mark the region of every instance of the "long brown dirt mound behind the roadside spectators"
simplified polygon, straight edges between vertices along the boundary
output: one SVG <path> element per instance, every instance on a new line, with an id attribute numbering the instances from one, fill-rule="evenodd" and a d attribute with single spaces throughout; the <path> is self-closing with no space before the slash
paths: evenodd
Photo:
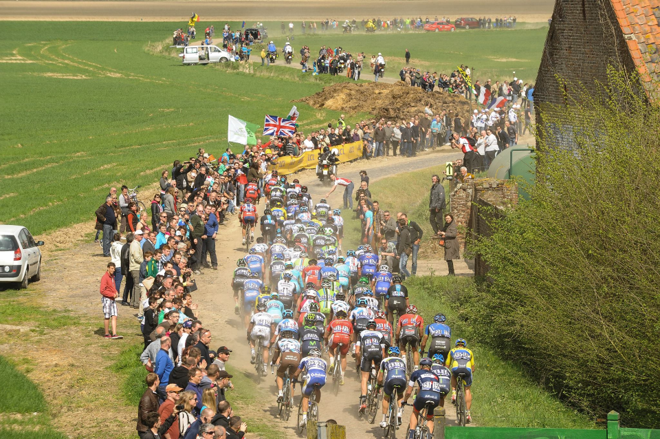
<path id="1" fill-rule="evenodd" d="M 325 87 L 321 92 L 300 99 L 314 108 L 326 108 L 347 113 L 366 112 L 386 120 L 410 119 L 423 114 L 429 105 L 434 114 L 440 111 L 458 112 L 465 122 L 470 118 L 470 103 L 456 94 L 423 92 L 405 83 L 340 83 Z"/>

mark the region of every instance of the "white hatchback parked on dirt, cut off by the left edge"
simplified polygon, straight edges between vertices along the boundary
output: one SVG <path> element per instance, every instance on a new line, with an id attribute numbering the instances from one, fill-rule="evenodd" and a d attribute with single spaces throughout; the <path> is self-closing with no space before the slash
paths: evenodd
<path id="1" fill-rule="evenodd" d="M 0 225 L 0 283 L 17 283 L 28 288 L 30 281 L 41 279 L 43 241 L 34 241 L 23 226 Z"/>

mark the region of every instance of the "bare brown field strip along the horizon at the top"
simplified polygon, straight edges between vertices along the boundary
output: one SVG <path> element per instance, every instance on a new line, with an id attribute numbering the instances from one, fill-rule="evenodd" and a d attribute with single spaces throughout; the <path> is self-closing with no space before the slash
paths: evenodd
<path id="1" fill-rule="evenodd" d="M 366 17 L 448 15 L 500 17 L 542 22 L 552 15 L 553 0 L 411 0 L 399 1 L 0 1 L 4 21 L 182 21 L 197 12 L 209 20 L 320 20 Z"/>

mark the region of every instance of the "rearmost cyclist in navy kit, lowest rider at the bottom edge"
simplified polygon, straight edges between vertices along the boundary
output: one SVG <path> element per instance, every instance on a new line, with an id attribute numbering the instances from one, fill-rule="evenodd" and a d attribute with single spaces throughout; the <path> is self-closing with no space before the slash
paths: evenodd
<path id="1" fill-rule="evenodd" d="M 410 430 L 408 430 L 408 439 L 415 437 L 415 428 L 419 420 L 419 411 L 425 406 L 428 407 L 426 411 L 426 425 L 430 437 L 433 437 L 433 411 L 435 407 L 440 405 L 440 401 L 444 398 L 442 394 L 442 387 L 440 378 L 431 371 L 432 362 L 430 358 L 422 358 L 419 362 L 420 370 L 412 372 L 410 381 L 408 382 L 408 389 L 404 396 L 404 403 L 408 403 L 408 398 L 412 394 L 412 387 L 417 384 L 417 396 L 415 402 L 412 404 L 412 414 L 410 414 Z M 446 393 L 445 393 L 446 395 Z"/>

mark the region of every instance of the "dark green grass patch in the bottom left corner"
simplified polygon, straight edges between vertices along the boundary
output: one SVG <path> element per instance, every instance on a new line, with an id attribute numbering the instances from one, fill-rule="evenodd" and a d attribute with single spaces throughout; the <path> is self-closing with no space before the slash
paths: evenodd
<path id="1" fill-rule="evenodd" d="M 3 439 L 65 439 L 50 425 L 43 394 L 10 361 L 0 356 L 3 378 L 0 398 L 0 437 Z"/>

